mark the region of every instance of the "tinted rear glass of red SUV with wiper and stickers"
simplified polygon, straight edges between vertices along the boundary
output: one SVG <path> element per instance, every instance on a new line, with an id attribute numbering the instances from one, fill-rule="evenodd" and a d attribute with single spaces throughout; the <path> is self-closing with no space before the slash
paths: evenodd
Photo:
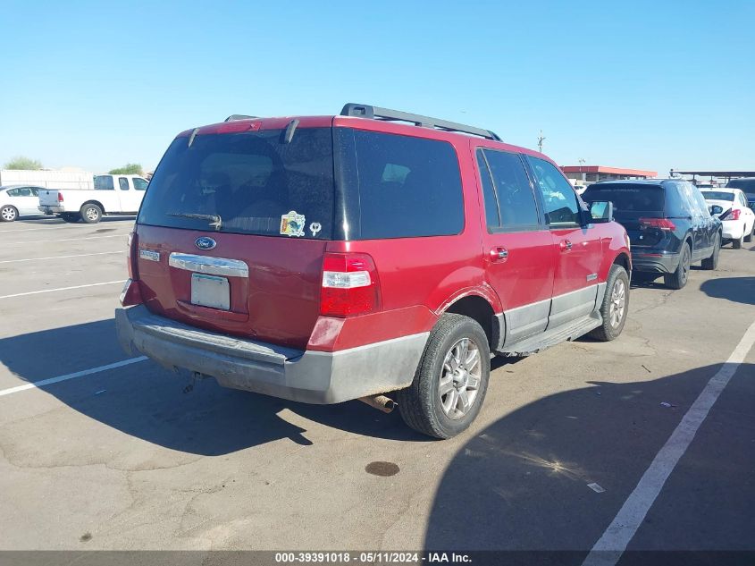
<path id="1" fill-rule="evenodd" d="M 197 135 L 173 140 L 149 182 L 139 224 L 329 240 L 330 128 Z"/>

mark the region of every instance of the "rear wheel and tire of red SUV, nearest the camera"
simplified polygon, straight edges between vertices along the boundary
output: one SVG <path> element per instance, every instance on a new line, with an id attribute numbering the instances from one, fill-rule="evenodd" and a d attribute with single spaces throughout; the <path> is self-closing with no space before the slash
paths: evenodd
<path id="1" fill-rule="evenodd" d="M 404 422 L 435 438 L 451 438 L 466 430 L 485 399 L 490 352 L 488 337 L 474 319 L 456 314 L 440 317 L 414 381 L 397 393 Z"/>

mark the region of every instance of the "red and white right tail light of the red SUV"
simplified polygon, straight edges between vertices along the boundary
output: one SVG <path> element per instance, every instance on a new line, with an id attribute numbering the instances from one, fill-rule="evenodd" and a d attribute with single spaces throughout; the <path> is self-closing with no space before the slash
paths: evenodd
<path id="1" fill-rule="evenodd" d="M 380 310 L 380 281 L 373 258 L 359 253 L 326 253 L 323 258 L 323 317 L 354 317 Z"/>

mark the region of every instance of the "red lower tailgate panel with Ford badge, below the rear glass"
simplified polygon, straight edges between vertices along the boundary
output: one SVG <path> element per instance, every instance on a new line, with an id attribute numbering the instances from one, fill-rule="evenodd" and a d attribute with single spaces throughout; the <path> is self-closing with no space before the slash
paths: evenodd
<path id="1" fill-rule="evenodd" d="M 216 241 L 214 249 L 197 249 L 197 239 L 206 237 Z M 320 311 L 325 241 L 141 225 L 137 242 L 140 289 L 152 312 L 215 332 L 306 348 Z M 206 306 L 206 282 L 197 283 L 202 277 L 217 284 L 218 291 L 208 292 L 227 296 L 227 305 Z"/>

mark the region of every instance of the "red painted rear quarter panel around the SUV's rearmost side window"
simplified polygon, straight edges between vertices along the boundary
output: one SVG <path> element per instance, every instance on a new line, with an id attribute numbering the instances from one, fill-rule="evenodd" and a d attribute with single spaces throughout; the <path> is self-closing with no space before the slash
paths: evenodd
<path id="1" fill-rule="evenodd" d="M 377 130 L 371 127 L 373 121 L 364 122 L 365 129 Z M 354 127 L 353 122 L 348 125 Z M 395 129 L 403 134 L 407 129 L 393 124 L 379 125 L 380 131 Z M 417 130 L 408 128 L 409 131 Z M 468 294 L 482 296 L 491 302 L 496 312 L 500 312 L 495 293 L 485 283 L 480 202 L 476 173 L 468 157 L 469 140 L 437 131 L 423 130 L 422 134 L 424 138 L 449 141 L 456 150 L 464 188 L 463 231 L 449 236 L 331 241 L 329 251 L 361 252 L 373 258 L 380 277 L 382 311 L 343 320 L 321 317 L 308 348 L 342 350 L 427 332 L 449 303 Z M 422 211 L 416 213 L 419 215 Z"/>

